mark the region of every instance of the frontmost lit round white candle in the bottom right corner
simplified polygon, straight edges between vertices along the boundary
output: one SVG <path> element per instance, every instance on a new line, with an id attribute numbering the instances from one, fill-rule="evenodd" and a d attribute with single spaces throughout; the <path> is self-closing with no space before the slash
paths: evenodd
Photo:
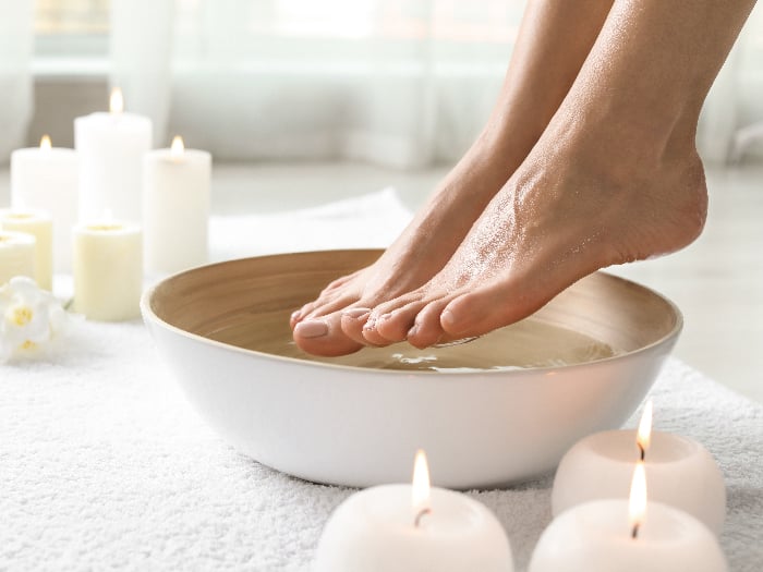
<path id="1" fill-rule="evenodd" d="M 594 500 L 562 512 L 541 535 L 528 568 L 528 572 L 580 570 L 724 572 L 727 565 L 704 524 L 674 507 L 647 502 L 645 472 L 639 462 L 630 500 Z"/>

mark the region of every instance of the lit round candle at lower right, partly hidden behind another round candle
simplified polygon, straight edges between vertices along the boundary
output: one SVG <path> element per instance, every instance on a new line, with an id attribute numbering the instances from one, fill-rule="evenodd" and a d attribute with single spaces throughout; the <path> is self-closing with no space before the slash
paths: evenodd
<path id="1" fill-rule="evenodd" d="M 638 430 L 597 433 L 576 443 L 561 459 L 554 479 L 553 513 L 590 500 L 627 498 L 633 465 L 643 459 L 652 500 L 681 509 L 719 534 L 726 488 L 715 460 L 697 441 L 653 433 L 651 424 L 649 402 Z"/>

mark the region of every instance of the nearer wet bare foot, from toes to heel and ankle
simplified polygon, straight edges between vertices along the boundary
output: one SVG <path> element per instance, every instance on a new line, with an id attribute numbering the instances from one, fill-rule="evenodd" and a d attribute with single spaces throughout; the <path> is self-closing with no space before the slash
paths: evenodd
<path id="1" fill-rule="evenodd" d="M 424 348 L 481 336 L 598 268 L 674 252 L 699 235 L 706 188 L 687 137 L 640 154 L 618 129 L 606 129 L 610 139 L 590 126 L 549 131 L 443 270 L 373 309 L 368 343 Z M 628 160 L 610 160 L 611 151 Z"/>

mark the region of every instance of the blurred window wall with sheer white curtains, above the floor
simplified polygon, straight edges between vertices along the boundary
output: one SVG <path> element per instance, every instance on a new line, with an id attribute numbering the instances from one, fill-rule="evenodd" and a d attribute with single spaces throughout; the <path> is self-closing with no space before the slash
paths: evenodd
<path id="1" fill-rule="evenodd" d="M 483 125 L 521 0 L 0 0 L 0 159 L 119 85 L 155 144 L 217 160 L 452 162 Z M 756 10 L 703 112 L 703 156 L 763 156 Z M 753 130 L 754 131 L 754 130 Z M 763 130 L 761 130 L 763 131 Z M 736 148 L 735 148 L 736 144 Z M 735 157 L 729 157 L 734 154 Z"/>

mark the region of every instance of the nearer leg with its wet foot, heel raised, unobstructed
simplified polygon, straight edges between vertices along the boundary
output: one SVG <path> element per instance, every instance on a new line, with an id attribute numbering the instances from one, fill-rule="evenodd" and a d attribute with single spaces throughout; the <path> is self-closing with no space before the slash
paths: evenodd
<path id="1" fill-rule="evenodd" d="M 374 308 L 368 338 L 479 336 L 598 268 L 692 242 L 707 204 L 700 109 L 753 3 L 616 0 L 526 160 L 440 272 Z"/>

